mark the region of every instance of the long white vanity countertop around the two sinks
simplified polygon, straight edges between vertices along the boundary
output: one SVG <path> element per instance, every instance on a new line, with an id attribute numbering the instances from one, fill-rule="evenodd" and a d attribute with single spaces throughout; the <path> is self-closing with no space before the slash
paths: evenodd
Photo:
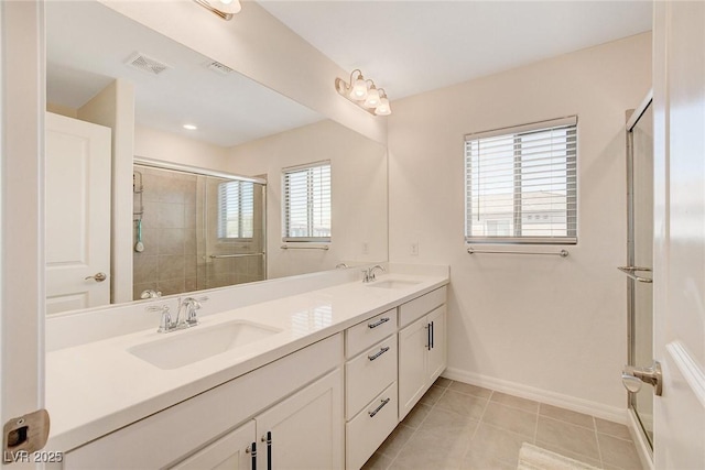
<path id="1" fill-rule="evenodd" d="M 68 451 L 120 427 L 248 373 L 448 283 L 448 275 L 388 274 L 415 284 L 379 288 L 360 281 L 311 291 L 199 318 L 192 329 L 156 327 L 58 349 L 46 354 L 46 449 Z M 204 305 L 204 309 L 207 305 Z M 128 349 L 245 320 L 281 330 L 177 369 L 160 369 Z"/>

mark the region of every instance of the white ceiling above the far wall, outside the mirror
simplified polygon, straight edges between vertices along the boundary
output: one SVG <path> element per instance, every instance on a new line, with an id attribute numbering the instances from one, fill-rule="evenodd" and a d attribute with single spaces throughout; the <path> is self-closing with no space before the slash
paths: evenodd
<path id="1" fill-rule="evenodd" d="M 646 0 L 258 2 L 392 100 L 650 31 L 652 17 Z"/>

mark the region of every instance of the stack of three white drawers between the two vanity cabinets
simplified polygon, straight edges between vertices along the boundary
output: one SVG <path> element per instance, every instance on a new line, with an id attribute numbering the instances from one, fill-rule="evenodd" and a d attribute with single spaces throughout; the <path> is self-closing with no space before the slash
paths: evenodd
<path id="1" fill-rule="evenodd" d="M 399 423 L 397 309 L 346 330 L 346 468 L 359 469 Z"/>

